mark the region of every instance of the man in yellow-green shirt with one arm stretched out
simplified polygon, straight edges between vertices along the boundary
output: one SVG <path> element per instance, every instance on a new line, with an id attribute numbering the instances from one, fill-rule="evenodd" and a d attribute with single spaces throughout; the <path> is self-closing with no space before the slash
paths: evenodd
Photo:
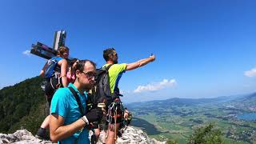
<path id="1" fill-rule="evenodd" d="M 114 50 L 114 48 L 108 48 L 103 51 L 103 58 L 106 60 L 106 64 L 103 67 L 112 64 L 112 66 L 110 66 L 110 69 L 109 69 L 111 93 L 119 94 L 118 82 L 122 77 L 122 74 L 124 74 L 126 70 L 134 70 L 134 69 L 137 69 L 138 67 L 145 66 L 149 62 L 154 62 L 155 55 L 151 55 L 149 58 L 141 59 L 138 62 L 118 64 L 118 53 Z M 128 116 L 128 111 L 125 112 L 124 118 L 126 118 L 127 116 Z M 117 122 L 118 123 L 115 124 L 116 125 L 115 129 L 114 129 L 114 122 L 111 122 L 111 124 L 109 125 L 106 144 L 115 143 L 115 140 L 116 140 L 115 134 L 117 134 L 117 130 L 120 126 L 120 121 L 117 121 Z M 96 135 L 97 135 L 97 132 L 96 132 Z"/>

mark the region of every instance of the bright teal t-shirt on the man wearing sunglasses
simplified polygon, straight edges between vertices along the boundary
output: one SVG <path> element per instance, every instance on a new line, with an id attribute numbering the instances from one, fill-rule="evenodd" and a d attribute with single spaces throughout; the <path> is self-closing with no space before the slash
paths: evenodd
<path id="1" fill-rule="evenodd" d="M 73 87 L 74 90 L 78 93 L 78 97 L 80 98 L 82 106 L 85 108 L 84 111 L 86 112 L 86 93 L 80 94 L 78 92 L 78 89 L 72 83 L 70 83 L 69 86 Z M 78 102 L 76 101 L 73 94 L 67 87 L 60 88 L 55 92 L 53 99 L 51 101 L 50 111 L 51 114 L 58 114 L 65 119 L 64 126 L 69 125 L 82 117 L 79 110 Z M 68 138 L 62 139 L 61 143 L 90 143 L 88 137 L 89 132 L 85 128 L 82 131 L 77 131 L 75 134 Z"/>

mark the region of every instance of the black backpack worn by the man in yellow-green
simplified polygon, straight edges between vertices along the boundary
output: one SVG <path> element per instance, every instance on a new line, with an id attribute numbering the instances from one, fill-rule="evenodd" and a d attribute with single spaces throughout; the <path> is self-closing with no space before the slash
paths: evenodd
<path id="1" fill-rule="evenodd" d="M 110 90 L 110 77 L 108 72 L 110 66 L 112 66 L 112 64 L 96 70 L 96 84 L 92 91 L 93 97 L 90 98 L 93 107 L 96 107 L 98 103 L 105 103 L 107 108 L 114 101 L 114 94 L 111 94 Z"/>

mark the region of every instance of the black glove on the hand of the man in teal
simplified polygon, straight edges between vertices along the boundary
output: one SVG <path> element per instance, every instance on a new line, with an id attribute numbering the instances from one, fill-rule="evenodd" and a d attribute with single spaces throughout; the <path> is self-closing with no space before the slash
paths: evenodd
<path id="1" fill-rule="evenodd" d="M 101 108 L 97 107 L 88 111 L 85 116 L 89 122 L 98 122 L 102 119 L 103 112 Z"/>

